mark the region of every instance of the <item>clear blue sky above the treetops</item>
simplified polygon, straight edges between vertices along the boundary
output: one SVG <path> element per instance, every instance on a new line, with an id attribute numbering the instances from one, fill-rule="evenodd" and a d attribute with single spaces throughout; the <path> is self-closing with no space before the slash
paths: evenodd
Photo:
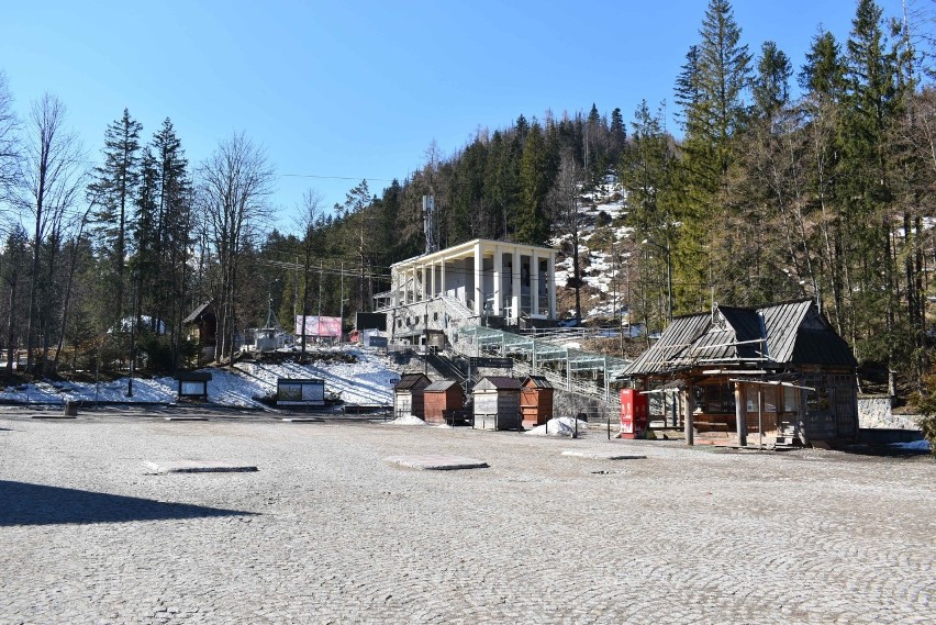
<path id="1" fill-rule="evenodd" d="M 879 4 L 900 12 L 900 0 Z M 521 113 L 594 102 L 629 122 L 643 98 L 671 103 L 705 5 L 5 0 L 0 71 L 21 113 L 58 96 L 90 160 L 124 108 L 146 139 L 170 118 L 192 164 L 243 131 L 278 174 L 277 225 L 289 231 L 304 190 L 326 207 L 361 179 L 379 192 L 433 141 L 447 155 Z M 736 0 L 734 11 L 753 54 L 772 40 L 799 71 L 820 24 L 844 42 L 855 3 Z"/>

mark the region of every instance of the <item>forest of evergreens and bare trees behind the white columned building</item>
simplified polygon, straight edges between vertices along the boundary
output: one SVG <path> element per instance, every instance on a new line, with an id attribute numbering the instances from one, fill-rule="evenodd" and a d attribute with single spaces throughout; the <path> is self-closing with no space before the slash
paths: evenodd
<path id="1" fill-rule="evenodd" d="M 687 49 L 668 104 L 525 112 L 454 153 L 433 142 L 416 172 L 382 190 L 361 181 L 335 207 L 309 191 L 289 232 L 270 232 L 276 177 L 247 136 L 192 164 L 169 119 L 146 135 L 129 103 L 88 170 L 64 103 L 45 97 L 16 120 L 0 78 L 0 344 L 49 373 L 126 365 L 133 331 L 145 362 L 168 369 L 191 353 L 180 322 L 201 302 L 215 302 L 229 339 L 264 322 L 268 294 L 287 327 L 303 311 L 350 319 L 388 287 L 391 263 L 424 250 L 422 196 L 436 198 L 442 246 L 556 242 L 573 289 L 583 198 L 614 179 L 624 210 L 588 225 L 610 227 L 613 265 L 643 294 L 628 298 L 632 316 L 658 327 L 713 301 L 811 297 L 862 362 L 918 380 L 936 90 L 932 7 L 916 5 L 883 15 L 860 0 L 846 41 L 818 31 L 791 59 L 778 43 L 746 43 L 731 4 L 710 0 L 698 41 L 668 42 Z"/>

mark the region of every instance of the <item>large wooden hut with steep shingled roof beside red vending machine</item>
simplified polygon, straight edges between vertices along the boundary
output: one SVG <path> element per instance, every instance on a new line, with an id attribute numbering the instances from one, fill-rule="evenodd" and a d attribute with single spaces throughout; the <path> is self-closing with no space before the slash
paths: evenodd
<path id="1" fill-rule="evenodd" d="M 816 304 L 799 300 L 676 317 L 622 378 L 677 389 L 690 445 L 771 447 L 854 439 L 856 367 Z"/>

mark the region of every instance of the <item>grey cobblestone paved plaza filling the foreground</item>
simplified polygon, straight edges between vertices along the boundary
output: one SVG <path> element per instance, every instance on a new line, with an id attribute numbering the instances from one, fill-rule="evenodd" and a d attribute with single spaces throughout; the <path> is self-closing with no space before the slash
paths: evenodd
<path id="1" fill-rule="evenodd" d="M 933 623 L 936 464 L 469 428 L 0 417 L 0 623 Z M 400 470 L 390 456 L 482 458 Z M 248 457 L 249 456 L 249 457 Z M 249 473 L 149 475 L 153 458 Z"/>

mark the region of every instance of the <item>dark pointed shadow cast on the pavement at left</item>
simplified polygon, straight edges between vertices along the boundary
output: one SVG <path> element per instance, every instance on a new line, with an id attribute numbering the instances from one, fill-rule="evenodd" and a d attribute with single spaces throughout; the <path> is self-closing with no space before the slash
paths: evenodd
<path id="1" fill-rule="evenodd" d="M 5 480 L 0 480 L 0 527 L 254 515 L 237 510 Z"/>

